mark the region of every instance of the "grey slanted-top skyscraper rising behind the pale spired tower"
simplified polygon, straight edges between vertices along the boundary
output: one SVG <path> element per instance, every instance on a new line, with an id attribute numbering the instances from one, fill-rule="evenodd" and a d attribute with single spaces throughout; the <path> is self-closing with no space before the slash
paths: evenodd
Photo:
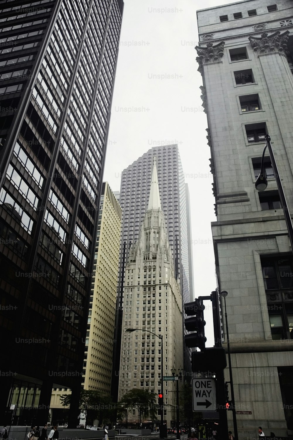
<path id="1" fill-rule="evenodd" d="M 116 356 L 113 359 L 115 372 L 112 378 L 112 395 L 117 396 L 118 373 L 120 363 L 123 287 L 125 266 L 129 249 L 137 241 L 141 222 L 148 206 L 148 194 L 151 187 L 152 166 L 156 157 L 158 185 L 165 214 L 167 234 L 173 253 L 175 278 L 180 280 L 182 302 L 189 302 L 189 277 L 193 273 L 193 261 L 189 256 L 191 242 L 190 222 L 187 223 L 186 191 L 178 145 L 153 147 L 122 171 L 119 202 L 122 207 L 122 232 L 119 261 L 119 279 L 117 293 L 117 315 L 115 341 Z M 188 201 L 188 199 L 187 199 Z M 182 331 L 183 323 L 182 323 Z M 190 350 L 184 350 L 184 369 L 190 369 Z"/>

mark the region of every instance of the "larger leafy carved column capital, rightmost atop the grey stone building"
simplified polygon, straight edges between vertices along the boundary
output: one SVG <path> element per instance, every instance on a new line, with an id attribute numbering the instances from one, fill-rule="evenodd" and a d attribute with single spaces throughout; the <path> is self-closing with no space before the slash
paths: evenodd
<path id="1" fill-rule="evenodd" d="M 280 52 L 284 55 L 289 55 L 287 51 L 287 41 L 289 38 L 289 30 L 281 33 L 279 31 L 271 34 L 270 36 L 267 33 L 262 33 L 261 37 L 248 37 L 250 44 L 254 51 L 258 53 L 258 55 L 271 54 L 274 52 Z"/>

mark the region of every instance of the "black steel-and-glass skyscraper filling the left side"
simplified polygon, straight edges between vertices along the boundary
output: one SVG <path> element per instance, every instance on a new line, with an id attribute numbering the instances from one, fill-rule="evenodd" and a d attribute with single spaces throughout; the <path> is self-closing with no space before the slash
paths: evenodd
<path id="1" fill-rule="evenodd" d="M 0 1 L 0 417 L 16 404 L 14 424 L 47 422 L 57 385 L 76 426 L 122 11 Z"/>

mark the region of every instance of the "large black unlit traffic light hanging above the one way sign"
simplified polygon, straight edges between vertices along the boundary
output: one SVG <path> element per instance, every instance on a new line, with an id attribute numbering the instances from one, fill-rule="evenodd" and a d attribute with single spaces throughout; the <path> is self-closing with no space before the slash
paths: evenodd
<path id="1" fill-rule="evenodd" d="M 196 299 L 192 303 L 184 304 L 184 312 L 187 316 L 193 316 L 184 320 L 185 329 L 195 331 L 184 337 L 187 347 L 198 347 L 204 350 L 207 338 L 204 336 L 204 304 L 202 299 Z"/>

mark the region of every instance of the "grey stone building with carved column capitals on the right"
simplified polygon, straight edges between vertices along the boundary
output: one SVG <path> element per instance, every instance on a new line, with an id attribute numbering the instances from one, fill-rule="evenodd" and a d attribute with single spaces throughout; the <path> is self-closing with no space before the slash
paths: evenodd
<path id="1" fill-rule="evenodd" d="M 288 436 L 293 258 L 267 150 L 267 190 L 257 192 L 255 181 L 269 134 L 292 212 L 293 2 L 246 0 L 197 11 L 197 20 L 217 215 L 212 234 L 219 288 L 228 292 L 238 435 L 257 438 L 262 426 L 265 435 Z"/>

